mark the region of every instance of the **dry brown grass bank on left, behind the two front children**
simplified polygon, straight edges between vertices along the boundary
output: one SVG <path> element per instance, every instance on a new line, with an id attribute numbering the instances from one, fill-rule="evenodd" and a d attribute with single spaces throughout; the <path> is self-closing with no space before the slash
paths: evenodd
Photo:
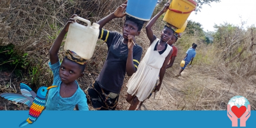
<path id="1" fill-rule="evenodd" d="M 0 10 L 0 25 L 3 33 L 1 45 L 15 44 L 15 50 L 29 53 L 29 67 L 20 82 L 28 84 L 33 90 L 40 86 L 52 84 L 52 73 L 47 63 L 49 62 L 49 48 L 57 37 L 61 28 L 73 14 L 77 14 L 92 23 L 109 15 L 117 6 L 125 0 L 5 0 L 1 5 L 6 9 Z M 125 18 L 117 18 L 110 21 L 105 29 L 122 32 L 122 24 Z M 6 39 L 7 40 L 3 40 Z M 145 31 L 136 38 L 138 44 L 144 47 L 144 53 L 148 46 Z M 63 41 L 65 42 L 65 40 Z M 79 79 L 82 89 L 85 89 L 98 76 L 105 62 L 108 48 L 103 41 L 98 41 L 93 57 L 87 62 L 85 75 Z M 60 61 L 63 57 L 63 46 L 59 52 Z M 126 76 L 125 81 L 128 77 Z M 5 85 L 6 82 L 1 83 Z M 15 83 L 19 88 L 19 83 Z M 123 89 L 124 90 L 124 89 Z M 1 92 L 6 92 L 2 90 Z M 124 91 L 125 92 L 125 91 Z M 125 102 L 120 99 L 120 102 Z M 122 109 L 122 107 L 120 108 Z"/>

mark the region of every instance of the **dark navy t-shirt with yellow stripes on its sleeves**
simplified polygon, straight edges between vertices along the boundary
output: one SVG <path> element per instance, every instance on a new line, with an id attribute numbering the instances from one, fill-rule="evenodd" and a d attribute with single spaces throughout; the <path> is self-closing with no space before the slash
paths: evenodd
<path id="1" fill-rule="evenodd" d="M 122 42 L 122 34 L 105 29 L 100 30 L 99 39 L 106 42 L 108 55 L 96 81 L 103 89 L 112 93 L 120 93 L 126 73 L 128 45 Z M 142 52 L 142 47 L 136 44 L 133 48 L 135 70 L 140 64 Z"/>

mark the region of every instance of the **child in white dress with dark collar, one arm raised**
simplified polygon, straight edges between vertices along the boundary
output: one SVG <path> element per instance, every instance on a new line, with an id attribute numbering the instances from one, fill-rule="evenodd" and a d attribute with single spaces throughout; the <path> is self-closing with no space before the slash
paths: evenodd
<path id="1" fill-rule="evenodd" d="M 147 52 L 140 62 L 138 70 L 131 76 L 127 83 L 126 100 L 131 104 L 129 110 L 135 110 L 139 102 L 143 102 L 152 92 L 158 75 L 160 74 L 159 84 L 155 90 L 159 91 L 166 71 L 169 58 L 172 55 L 172 47 L 167 44 L 174 33 L 172 26 L 164 26 L 160 39 L 158 39 L 151 29 L 157 19 L 168 10 L 169 3 L 166 3 L 163 9 L 154 16 L 146 26 L 146 32 L 150 45 Z"/>

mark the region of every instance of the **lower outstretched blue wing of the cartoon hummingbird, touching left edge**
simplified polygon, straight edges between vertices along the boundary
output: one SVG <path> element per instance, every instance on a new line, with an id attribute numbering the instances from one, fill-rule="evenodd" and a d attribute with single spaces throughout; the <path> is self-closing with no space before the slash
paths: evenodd
<path id="1" fill-rule="evenodd" d="M 29 108 L 34 101 L 34 99 L 32 97 L 23 96 L 23 95 L 15 94 L 15 93 L 2 93 L 2 94 L 0 94 L 0 96 L 2 96 L 5 99 L 11 100 L 11 101 L 26 104 L 29 106 Z"/>

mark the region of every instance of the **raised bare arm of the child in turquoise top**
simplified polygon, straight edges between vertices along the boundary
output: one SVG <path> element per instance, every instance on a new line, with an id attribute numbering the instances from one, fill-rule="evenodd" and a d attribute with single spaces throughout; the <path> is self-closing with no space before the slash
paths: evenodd
<path id="1" fill-rule="evenodd" d="M 75 20 L 73 19 L 73 17 L 75 17 L 77 15 L 73 15 L 68 21 L 67 24 L 64 26 L 64 28 L 61 30 L 60 34 L 58 35 L 58 37 L 56 38 L 56 40 L 54 41 L 54 43 L 52 44 L 52 47 L 49 51 L 50 54 L 50 62 L 51 64 L 55 64 L 59 61 L 58 58 L 58 51 L 61 47 L 61 43 L 63 41 L 63 38 L 65 36 L 65 34 L 68 31 L 69 25 L 70 23 L 74 23 Z"/>

